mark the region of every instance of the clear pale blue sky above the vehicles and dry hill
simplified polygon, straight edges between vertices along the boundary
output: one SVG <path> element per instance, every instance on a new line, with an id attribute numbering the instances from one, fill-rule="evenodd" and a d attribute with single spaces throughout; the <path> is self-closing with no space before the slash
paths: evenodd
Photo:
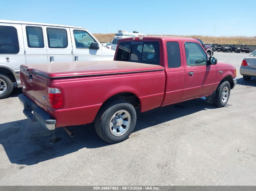
<path id="1" fill-rule="evenodd" d="M 256 36 L 255 0 L 9 0 L 0 19 L 84 27 L 91 33 Z"/>

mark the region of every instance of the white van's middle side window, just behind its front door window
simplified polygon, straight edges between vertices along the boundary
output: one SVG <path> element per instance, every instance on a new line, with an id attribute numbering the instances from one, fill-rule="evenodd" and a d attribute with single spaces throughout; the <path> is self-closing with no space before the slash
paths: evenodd
<path id="1" fill-rule="evenodd" d="M 66 29 L 46 28 L 49 48 L 67 48 L 68 34 Z"/>

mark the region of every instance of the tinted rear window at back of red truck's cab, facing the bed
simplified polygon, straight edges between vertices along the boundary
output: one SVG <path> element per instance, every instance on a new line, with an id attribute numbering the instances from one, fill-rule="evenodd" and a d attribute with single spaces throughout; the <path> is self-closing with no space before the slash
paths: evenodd
<path id="1" fill-rule="evenodd" d="M 159 43 L 121 42 L 118 46 L 116 60 L 159 65 Z"/>

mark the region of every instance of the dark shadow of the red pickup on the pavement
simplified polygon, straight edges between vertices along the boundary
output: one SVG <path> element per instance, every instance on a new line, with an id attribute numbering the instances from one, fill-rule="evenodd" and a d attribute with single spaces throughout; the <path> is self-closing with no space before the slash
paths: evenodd
<path id="1" fill-rule="evenodd" d="M 203 99 L 196 99 L 138 113 L 135 132 L 205 109 L 216 107 Z M 33 165 L 79 149 L 111 145 L 98 137 L 94 123 L 72 126 L 70 129 L 75 132 L 74 137 L 70 137 L 62 128 L 48 131 L 28 119 L 0 124 L 0 144 L 4 148 L 0 152 L 4 154 L 2 152 L 5 151 L 11 163 Z"/>

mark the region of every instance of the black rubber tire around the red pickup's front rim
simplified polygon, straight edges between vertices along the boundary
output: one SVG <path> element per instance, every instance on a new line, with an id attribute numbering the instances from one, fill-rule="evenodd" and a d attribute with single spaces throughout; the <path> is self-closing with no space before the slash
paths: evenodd
<path id="1" fill-rule="evenodd" d="M 226 87 L 228 88 L 228 95 L 227 95 L 227 99 L 223 103 L 222 102 L 222 92 L 224 91 L 224 88 L 226 88 Z M 228 99 L 230 96 L 230 90 L 231 90 L 231 88 L 230 88 L 229 82 L 228 81 L 222 82 L 216 90 L 214 102 L 213 102 L 214 106 L 224 107 L 226 105 L 226 103 L 228 103 Z"/>

